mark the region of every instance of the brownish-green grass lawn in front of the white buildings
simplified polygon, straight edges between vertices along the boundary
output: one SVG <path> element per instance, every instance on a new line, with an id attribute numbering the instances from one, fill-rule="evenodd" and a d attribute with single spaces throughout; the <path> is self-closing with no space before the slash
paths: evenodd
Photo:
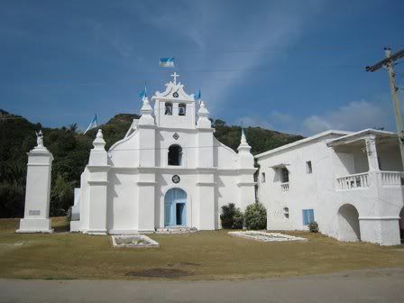
<path id="1" fill-rule="evenodd" d="M 60 233 L 67 230 L 62 217 L 52 218 L 55 234 L 14 234 L 18 222 L 0 220 L 0 278 L 122 280 L 145 279 L 131 272 L 165 277 L 178 271 L 182 280 L 217 280 L 404 267 L 403 245 L 340 243 L 304 232 L 288 234 L 307 242 L 289 243 L 255 242 L 225 230 L 150 234 L 160 248 L 133 249 L 113 248 L 110 236 Z"/>

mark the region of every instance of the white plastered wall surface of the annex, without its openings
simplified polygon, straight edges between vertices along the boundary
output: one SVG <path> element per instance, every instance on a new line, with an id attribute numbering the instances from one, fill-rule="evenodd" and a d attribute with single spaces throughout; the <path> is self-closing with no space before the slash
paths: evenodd
<path id="1" fill-rule="evenodd" d="M 329 139 L 323 137 L 319 142 L 302 143 L 258 159 L 261 166 L 258 192 L 268 210 L 268 229 L 307 229 L 302 224 L 302 210 L 312 208 L 320 231 L 339 238 L 338 209 L 350 204 L 359 213 L 363 241 L 399 243 L 398 218 L 404 188 L 381 186 L 381 172 L 375 171 L 368 174 L 372 185 L 369 188 L 340 190 L 336 183 L 338 177 L 369 170 L 367 154 L 359 144 L 356 149 L 327 147 Z M 386 162 L 392 158 L 386 151 L 379 154 Z M 306 161 L 312 161 L 312 174 L 306 172 Z M 390 162 L 397 163 L 397 158 Z M 271 169 L 280 163 L 289 164 L 286 166 L 290 171 L 289 191 L 286 192 L 281 191 L 280 179 Z M 266 174 L 265 183 L 262 183 L 262 172 Z M 283 215 L 283 207 L 289 207 L 289 218 Z"/>

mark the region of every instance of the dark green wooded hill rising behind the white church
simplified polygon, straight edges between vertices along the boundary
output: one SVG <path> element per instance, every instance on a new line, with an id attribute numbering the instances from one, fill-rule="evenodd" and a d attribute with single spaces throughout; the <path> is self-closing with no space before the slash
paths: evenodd
<path id="1" fill-rule="evenodd" d="M 106 148 L 124 138 L 134 118 L 139 118 L 139 115 L 118 114 L 106 124 L 100 125 Z M 228 126 L 223 120 L 212 121 L 212 124 L 216 127 L 216 138 L 236 151 L 240 143 L 240 126 Z M 0 217 L 23 216 L 26 152 L 35 146 L 35 131 L 40 129 L 44 135 L 45 146 L 54 157 L 50 216 L 65 215 L 73 204 L 73 188 L 79 186 L 80 174 L 87 164 L 96 129 L 82 134 L 77 133 L 77 124 L 46 128 L 0 109 Z M 247 127 L 245 134 L 253 154 L 303 138 L 300 135 L 279 133 L 261 127 Z"/>

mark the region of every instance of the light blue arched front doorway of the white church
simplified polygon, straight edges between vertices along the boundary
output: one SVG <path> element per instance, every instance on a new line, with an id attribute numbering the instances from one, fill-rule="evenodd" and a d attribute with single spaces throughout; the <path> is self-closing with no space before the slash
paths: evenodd
<path id="1" fill-rule="evenodd" d="M 164 226 L 187 225 L 187 193 L 171 188 L 164 197 Z"/>

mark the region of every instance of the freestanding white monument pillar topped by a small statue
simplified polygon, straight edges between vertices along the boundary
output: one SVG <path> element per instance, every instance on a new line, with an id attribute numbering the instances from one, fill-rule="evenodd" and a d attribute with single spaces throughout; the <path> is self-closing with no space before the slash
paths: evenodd
<path id="1" fill-rule="evenodd" d="M 50 205 L 50 172 L 53 156 L 43 146 L 43 135 L 37 135 L 37 146 L 28 154 L 27 183 L 25 189 L 25 208 L 20 228 L 16 233 L 51 233 Z"/>

